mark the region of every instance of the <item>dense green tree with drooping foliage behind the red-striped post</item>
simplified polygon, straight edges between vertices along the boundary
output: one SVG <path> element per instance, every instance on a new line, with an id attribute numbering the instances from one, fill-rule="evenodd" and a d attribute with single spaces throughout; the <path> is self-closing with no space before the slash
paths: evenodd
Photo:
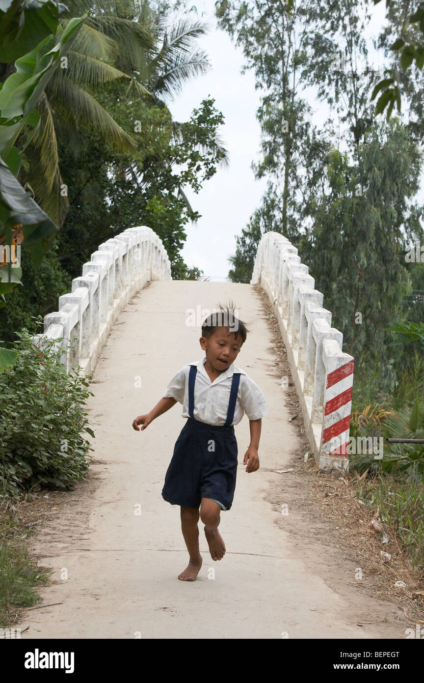
<path id="1" fill-rule="evenodd" d="M 408 240 L 422 234 L 413 201 L 420 172 L 417 148 L 397 121 L 368 133 L 358 163 L 333 150 L 329 189 L 316 196 L 312 230 L 299 243 L 346 351 L 359 358 L 378 351 L 387 382 L 394 374 L 385 328 L 410 290 Z"/>

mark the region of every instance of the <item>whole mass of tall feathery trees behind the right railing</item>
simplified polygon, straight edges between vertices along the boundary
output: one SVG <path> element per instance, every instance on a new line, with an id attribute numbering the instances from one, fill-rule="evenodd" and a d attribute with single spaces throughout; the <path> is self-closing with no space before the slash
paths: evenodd
<path id="1" fill-rule="evenodd" d="M 380 48 L 402 26 L 410 3 L 400 4 L 391 5 Z M 249 281 L 265 232 L 288 236 L 344 334 L 344 350 L 355 357 L 354 410 L 402 407 L 413 350 L 391 346 L 390 325 L 422 320 L 423 264 L 405 258 L 408 242 L 423 239 L 415 199 L 422 82 L 409 84 L 414 117 L 407 125 L 376 122 L 367 0 L 294 2 L 290 14 L 283 3 L 247 0 L 220 0 L 215 8 L 219 25 L 243 47 L 243 71 L 254 70 L 256 87 L 266 93 L 258 109 L 262 158 L 254 171 L 268 186 L 237 238 L 230 276 Z M 319 130 L 302 100 L 305 87 L 330 110 Z"/>

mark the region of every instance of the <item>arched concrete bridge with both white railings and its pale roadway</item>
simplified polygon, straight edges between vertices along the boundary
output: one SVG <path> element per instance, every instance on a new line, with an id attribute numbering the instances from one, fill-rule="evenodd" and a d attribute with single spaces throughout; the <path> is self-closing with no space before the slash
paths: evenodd
<path id="1" fill-rule="evenodd" d="M 47 337 L 74 339 L 69 350 L 63 345 L 63 363 L 94 372 L 87 409 L 95 451 L 74 491 L 48 494 L 55 512 L 31 537 L 40 565 L 54 573 L 39 589 L 44 607 L 22 620 L 22 638 L 404 637 L 402 611 L 399 621 L 397 604 L 375 591 L 364 600 L 360 558 L 336 546 L 334 522 L 318 520 L 305 475 L 290 471 L 306 447 L 289 421 L 274 333 L 254 283 L 275 311 L 310 450 L 324 469 L 346 466 L 346 456 L 331 451 L 335 437 L 344 443 L 348 433 L 352 358 L 296 249 L 270 232 L 252 283 L 172 281 L 157 235 L 148 227 L 125 230 L 91 255 L 35 339 L 40 346 Z M 179 508 L 161 497 L 183 426 L 181 404 L 142 432 L 132 421 L 162 398 L 184 363 L 203 356 L 200 328 L 186 324 L 187 311 L 211 311 L 228 298 L 250 323 L 237 362 L 264 392 L 269 416 L 256 473 L 242 464 L 247 419 L 235 428 L 237 487 L 219 526 L 226 555 L 213 561 L 200 529 L 203 566 L 187 583 L 177 580 L 187 564 Z"/>

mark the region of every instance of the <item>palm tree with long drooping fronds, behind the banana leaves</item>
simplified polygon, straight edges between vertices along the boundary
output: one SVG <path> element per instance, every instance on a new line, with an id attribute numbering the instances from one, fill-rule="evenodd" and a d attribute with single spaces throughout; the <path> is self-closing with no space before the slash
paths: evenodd
<path id="1" fill-rule="evenodd" d="M 37 202 L 59 225 L 69 203 L 61 195 L 57 130 L 76 146 L 79 131 L 93 130 L 117 151 L 137 148 L 136 140 L 97 101 L 95 89 L 117 81 L 124 98 L 164 104 L 185 81 L 209 68 L 207 55 L 195 46 L 207 30 L 202 23 L 179 20 L 168 28 L 146 0 L 70 0 L 67 6 L 72 16 L 89 14 L 67 53 L 65 68 L 57 69 L 40 100 L 40 128 L 29 142 L 27 169 L 22 171 Z M 173 127 L 179 139 L 180 125 L 174 122 Z M 219 137 L 215 147 L 225 152 Z M 180 194 L 185 199 L 182 189 Z"/>

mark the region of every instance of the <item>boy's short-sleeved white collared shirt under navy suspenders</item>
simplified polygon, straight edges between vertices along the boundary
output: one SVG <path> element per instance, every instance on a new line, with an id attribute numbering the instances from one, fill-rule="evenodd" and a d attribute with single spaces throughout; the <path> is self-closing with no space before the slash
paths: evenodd
<path id="1" fill-rule="evenodd" d="M 205 370 L 206 356 L 201 361 L 187 363 L 181 367 L 170 380 L 164 398 L 175 398 L 183 404 L 182 417 L 190 417 L 188 412 L 188 377 L 190 365 L 196 365 L 196 382 L 194 384 L 194 419 L 221 426 L 227 419 L 228 402 L 232 375 L 240 373 L 239 390 L 234 408 L 232 425 L 237 425 L 246 413 L 249 420 L 257 420 L 268 415 L 267 404 L 260 388 L 244 370 L 231 363 L 213 382 Z"/>

